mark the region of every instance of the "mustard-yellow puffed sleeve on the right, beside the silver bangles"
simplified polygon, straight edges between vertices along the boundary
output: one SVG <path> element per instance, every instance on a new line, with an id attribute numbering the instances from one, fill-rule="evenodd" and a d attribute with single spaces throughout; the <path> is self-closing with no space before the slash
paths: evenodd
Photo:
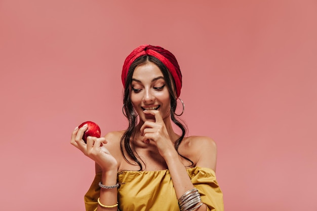
<path id="1" fill-rule="evenodd" d="M 222 191 L 216 180 L 215 172 L 211 168 L 189 168 L 188 175 L 192 184 L 199 190 L 202 201 L 207 205 L 208 211 L 223 211 Z"/>

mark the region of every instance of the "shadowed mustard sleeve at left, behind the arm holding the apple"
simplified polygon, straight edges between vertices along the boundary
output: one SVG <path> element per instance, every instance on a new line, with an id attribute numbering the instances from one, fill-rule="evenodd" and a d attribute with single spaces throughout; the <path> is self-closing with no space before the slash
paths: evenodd
<path id="1" fill-rule="evenodd" d="M 97 199 L 100 195 L 100 187 L 98 183 L 101 181 L 102 172 L 97 173 L 93 183 L 91 184 L 89 190 L 85 194 L 85 207 L 86 211 L 95 211 L 98 207 Z"/>

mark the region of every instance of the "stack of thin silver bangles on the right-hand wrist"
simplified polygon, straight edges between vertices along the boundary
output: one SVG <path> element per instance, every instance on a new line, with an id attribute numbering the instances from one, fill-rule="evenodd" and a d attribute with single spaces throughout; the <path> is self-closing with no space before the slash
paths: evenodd
<path id="1" fill-rule="evenodd" d="M 204 203 L 202 202 L 201 195 L 199 194 L 197 188 L 187 191 L 178 199 L 180 211 L 191 211 L 203 204 Z"/>

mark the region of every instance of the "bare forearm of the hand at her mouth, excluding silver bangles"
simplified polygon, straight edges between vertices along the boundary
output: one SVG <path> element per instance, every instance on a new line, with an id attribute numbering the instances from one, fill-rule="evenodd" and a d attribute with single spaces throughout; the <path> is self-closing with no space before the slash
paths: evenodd
<path id="1" fill-rule="evenodd" d="M 174 189 L 176 192 L 176 196 L 179 199 L 184 193 L 186 193 L 188 190 L 191 190 L 194 188 L 193 184 L 191 183 L 191 180 L 188 176 L 188 173 L 186 171 L 185 166 L 181 162 L 181 159 L 178 155 L 178 153 L 170 152 L 166 157 L 166 163 L 169 168 L 169 172 L 171 174 L 172 182 L 174 185 Z M 195 211 L 206 211 L 207 207 L 205 204 L 200 206 L 199 208 L 195 209 Z"/>

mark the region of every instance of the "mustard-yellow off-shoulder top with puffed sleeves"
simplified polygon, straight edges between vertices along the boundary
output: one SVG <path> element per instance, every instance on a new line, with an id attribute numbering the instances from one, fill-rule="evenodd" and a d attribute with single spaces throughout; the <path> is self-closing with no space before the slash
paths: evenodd
<path id="1" fill-rule="evenodd" d="M 223 211 L 222 192 L 211 168 L 192 167 L 187 169 L 192 184 L 199 190 L 202 201 L 209 211 Z M 97 209 L 100 193 L 98 173 L 85 195 L 87 211 Z M 118 209 L 120 211 L 179 211 L 178 201 L 169 170 L 122 171 L 117 173 Z"/>

